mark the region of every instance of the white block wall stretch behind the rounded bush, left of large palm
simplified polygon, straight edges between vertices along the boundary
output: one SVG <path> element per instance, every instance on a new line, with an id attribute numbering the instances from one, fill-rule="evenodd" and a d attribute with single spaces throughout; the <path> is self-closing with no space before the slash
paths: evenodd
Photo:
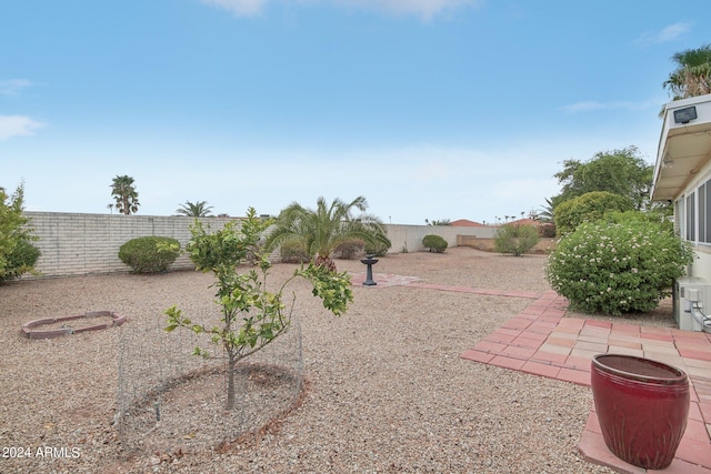
<path id="1" fill-rule="evenodd" d="M 36 269 L 41 276 L 87 275 L 129 272 L 119 260 L 119 248 L 127 241 L 144 235 L 169 236 L 184 250 L 191 238 L 194 218 L 123 214 L 73 214 L 26 212 L 31 219 L 34 245 L 42 252 Z M 230 218 L 203 218 L 212 230 L 220 230 Z M 183 253 L 172 270 L 194 269 Z"/>

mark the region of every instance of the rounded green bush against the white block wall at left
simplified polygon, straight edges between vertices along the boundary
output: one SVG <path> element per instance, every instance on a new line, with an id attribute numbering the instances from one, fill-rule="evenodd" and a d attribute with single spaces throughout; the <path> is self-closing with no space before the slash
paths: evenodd
<path id="1" fill-rule="evenodd" d="M 166 236 L 132 239 L 119 249 L 119 259 L 133 273 L 164 272 L 180 254 L 180 242 Z"/>

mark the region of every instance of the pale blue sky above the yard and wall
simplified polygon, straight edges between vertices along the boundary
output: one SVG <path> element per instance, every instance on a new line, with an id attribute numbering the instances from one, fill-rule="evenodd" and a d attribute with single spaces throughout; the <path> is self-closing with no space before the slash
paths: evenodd
<path id="1" fill-rule="evenodd" d="M 650 163 L 674 52 L 711 2 L 22 0 L 0 8 L 0 186 L 29 211 L 186 201 L 384 222 L 540 209 L 562 161 Z"/>

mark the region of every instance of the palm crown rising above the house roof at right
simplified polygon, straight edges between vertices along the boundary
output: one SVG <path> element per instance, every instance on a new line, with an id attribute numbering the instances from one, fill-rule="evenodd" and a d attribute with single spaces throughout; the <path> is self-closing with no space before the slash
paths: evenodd
<path id="1" fill-rule="evenodd" d="M 671 59 L 677 69 L 663 87 L 670 90 L 673 100 L 711 93 L 711 44 L 680 51 Z"/>

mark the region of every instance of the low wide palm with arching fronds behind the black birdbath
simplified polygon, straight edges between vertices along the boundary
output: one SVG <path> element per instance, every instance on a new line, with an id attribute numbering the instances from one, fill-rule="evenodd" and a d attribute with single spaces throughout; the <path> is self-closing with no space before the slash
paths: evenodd
<path id="1" fill-rule="evenodd" d="M 354 209 L 361 214 L 353 216 Z M 271 251 L 287 241 L 300 242 L 314 264 L 336 271 L 330 255 L 343 241 L 389 242 L 382 222 L 372 214 L 365 214 L 367 209 L 368 202 L 362 195 L 350 203 L 334 199 L 330 205 L 321 196 L 316 210 L 293 202 L 279 213 L 277 228 L 264 245 Z"/>

